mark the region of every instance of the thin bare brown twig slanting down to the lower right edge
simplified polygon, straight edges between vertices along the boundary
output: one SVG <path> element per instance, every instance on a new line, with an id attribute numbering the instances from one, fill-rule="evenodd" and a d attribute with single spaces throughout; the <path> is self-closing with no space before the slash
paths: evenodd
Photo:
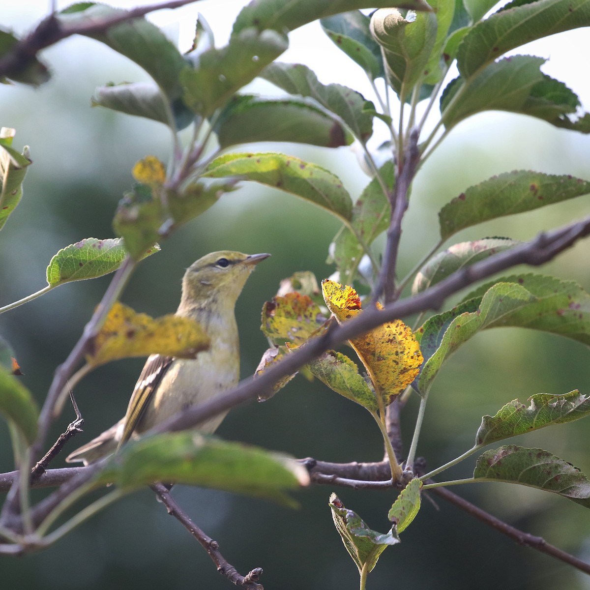
<path id="1" fill-rule="evenodd" d="M 454 494 L 452 491 L 447 490 L 444 487 L 433 488 L 431 492 L 455 504 L 455 506 L 458 506 L 461 510 L 471 514 L 471 516 L 476 517 L 478 520 L 481 520 L 481 522 L 491 526 L 493 529 L 499 530 L 500 533 L 510 537 L 510 539 L 515 540 L 520 545 L 525 545 L 531 549 L 536 549 L 537 551 L 546 553 L 555 559 L 559 559 L 564 563 L 568 563 L 569 565 L 579 569 L 584 573 L 590 574 L 590 563 L 586 563 L 581 559 L 578 559 L 575 556 L 556 548 L 553 545 L 549 545 L 549 543 L 546 542 L 543 537 L 530 535 L 529 533 L 525 533 L 522 530 L 508 525 L 507 523 L 503 522 L 503 520 L 496 518 L 485 510 L 481 510 L 481 508 L 474 506 L 474 504 L 471 504 L 471 502 L 464 500 L 461 496 L 457 496 L 457 494 Z"/>

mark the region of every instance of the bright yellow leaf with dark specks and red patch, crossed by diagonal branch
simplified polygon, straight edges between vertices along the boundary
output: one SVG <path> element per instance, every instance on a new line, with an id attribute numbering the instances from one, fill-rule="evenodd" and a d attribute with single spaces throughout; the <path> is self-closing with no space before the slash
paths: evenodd
<path id="1" fill-rule="evenodd" d="M 324 300 L 339 324 L 361 312 L 360 298 L 349 286 L 324 279 Z M 378 309 L 382 309 L 377 304 Z M 385 322 L 371 332 L 349 340 L 385 405 L 412 382 L 422 365 L 422 353 L 412 330 L 401 320 Z"/>

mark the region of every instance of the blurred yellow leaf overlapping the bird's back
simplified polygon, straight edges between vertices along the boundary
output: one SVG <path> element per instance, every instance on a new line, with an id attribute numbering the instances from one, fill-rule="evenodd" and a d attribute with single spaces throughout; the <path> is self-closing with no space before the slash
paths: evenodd
<path id="1" fill-rule="evenodd" d="M 192 359 L 208 348 L 209 337 L 194 320 L 172 314 L 153 319 L 117 301 L 94 338 L 93 350 L 86 360 L 96 366 L 128 356 L 152 354 Z"/>

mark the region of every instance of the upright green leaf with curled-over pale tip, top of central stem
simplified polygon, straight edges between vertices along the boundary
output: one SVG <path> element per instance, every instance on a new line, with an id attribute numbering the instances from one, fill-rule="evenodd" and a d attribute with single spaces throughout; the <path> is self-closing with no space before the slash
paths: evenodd
<path id="1" fill-rule="evenodd" d="M 405 100 L 424 76 L 437 41 L 433 12 L 409 12 L 406 16 L 395 8 L 382 8 L 371 17 L 371 33 L 381 45 L 388 80 L 400 100 Z"/>

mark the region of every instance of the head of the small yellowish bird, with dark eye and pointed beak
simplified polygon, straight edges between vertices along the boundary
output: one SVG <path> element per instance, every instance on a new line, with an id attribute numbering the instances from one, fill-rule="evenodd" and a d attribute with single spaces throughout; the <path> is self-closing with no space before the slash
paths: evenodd
<path id="1" fill-rule="evenodd" d="M 256 265 L 269 256 L 230 250 L 206 254 L 186 269 L 182 279 L 181 306 L 233 308 Z"/>

